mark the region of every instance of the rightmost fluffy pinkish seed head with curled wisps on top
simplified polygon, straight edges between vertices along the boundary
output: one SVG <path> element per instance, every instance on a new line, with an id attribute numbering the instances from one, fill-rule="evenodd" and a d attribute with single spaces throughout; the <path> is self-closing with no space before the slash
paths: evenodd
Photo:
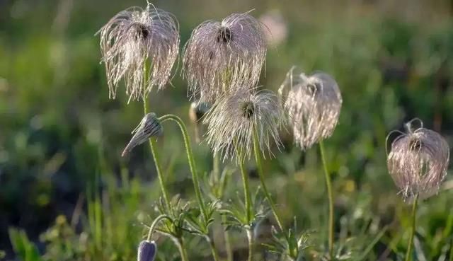
<path id="1" fill-rule="evenodd" d="M 447 141 L 437 132 L 423 128 L 420 120 L 421 127 L 413 130 L 414 120 L 406 124 L 408 133 L 398 132 L 400 135 L 391 143 L 387 155 L 391 178 L 409 201 L 415 195 L 420 198 L 435 195 L 447 175 L 449 163 Z"/>

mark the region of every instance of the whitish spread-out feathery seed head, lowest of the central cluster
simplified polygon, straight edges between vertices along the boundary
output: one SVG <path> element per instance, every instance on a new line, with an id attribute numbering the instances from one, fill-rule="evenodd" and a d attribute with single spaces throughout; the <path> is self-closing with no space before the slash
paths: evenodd
<path id="1" fill-rule="evenodd" d="M 278 130 L 284 119 L 277 97 L 271 91 L 241 90 L 221 98 L 205 116 L 207 143 L 223 159 L 242 161 L 253 150 L 253 132 L 263 154 L 271 141 L 280 146 Z"/>

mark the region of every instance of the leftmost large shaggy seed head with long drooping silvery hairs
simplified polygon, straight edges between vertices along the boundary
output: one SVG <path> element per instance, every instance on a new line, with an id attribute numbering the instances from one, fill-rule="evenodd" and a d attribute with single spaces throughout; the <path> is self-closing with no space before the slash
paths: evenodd
<path id="1" fill-rule="evenodd" d="M 166 86 L 180 42 L 178 21 L 171 13 L 151 4 L 127 8 L 98 33 L 110 98 L 115 98 L 121 79 L 130 100 L 143 98 L 153 86 Z"/>

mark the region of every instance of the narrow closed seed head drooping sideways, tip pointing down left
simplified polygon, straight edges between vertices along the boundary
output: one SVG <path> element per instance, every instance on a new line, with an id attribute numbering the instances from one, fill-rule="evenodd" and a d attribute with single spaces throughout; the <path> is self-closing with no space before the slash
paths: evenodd
<path id="1" fill-rule="evenodd" d="M 132 151 L 135 146 L 138 146 L 144 141 L 147 141 L 150 137 L 159 137 L 164 134 L 164 127 L 162 127 L 161 122 L 156 117 L 154 112 L 144 115 L 142 121 L 139 125 L 132 131 L 134 136 L 127 144 L 124 151 L 122 151 L 121 156 L 125 156 L 127 153 Z"/>

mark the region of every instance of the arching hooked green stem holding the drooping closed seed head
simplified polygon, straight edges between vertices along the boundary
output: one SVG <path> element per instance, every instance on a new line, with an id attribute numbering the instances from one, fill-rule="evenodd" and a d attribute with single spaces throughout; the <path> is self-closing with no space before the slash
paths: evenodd
<path id="1" fill-rule="evenodd" d="M 193 158 L 193 151 L 192 147 L 190 146 L 190 137 L 187 132 L 187 128 L 185 127 L 185 124 L 183 120 L 180 119 L 180 117 L 176 115 L 164 115 L 159 118 L 161 123 L 166 122 L 167 120 L 173 120 L 173 122 L 176 122 L 178 126 L 180 127 L 181 133 L 183 134 L 184 138 L 184 144 L 185 144 L 185 153 L 187 153 L 187 158 L 189 161 L 189 167 L 190 167 L 190 173 L 192 173 L 192 181 L 193 181 L 193 187 L 195 190 L 195 196 L 197 197 L 198 205 L 200 206 L 201 214 L 203 216 L 203 219 L 205 222 L 207 222 L 207 211 L 205 207 L 205 202 L 203 202 L 202 196 L 201 196 L 201 189 L 200 189 L 200 182 L 198 180 L 198 173 L 197 173 L 197 168 L 195 166 L 195 160 Z"/>

